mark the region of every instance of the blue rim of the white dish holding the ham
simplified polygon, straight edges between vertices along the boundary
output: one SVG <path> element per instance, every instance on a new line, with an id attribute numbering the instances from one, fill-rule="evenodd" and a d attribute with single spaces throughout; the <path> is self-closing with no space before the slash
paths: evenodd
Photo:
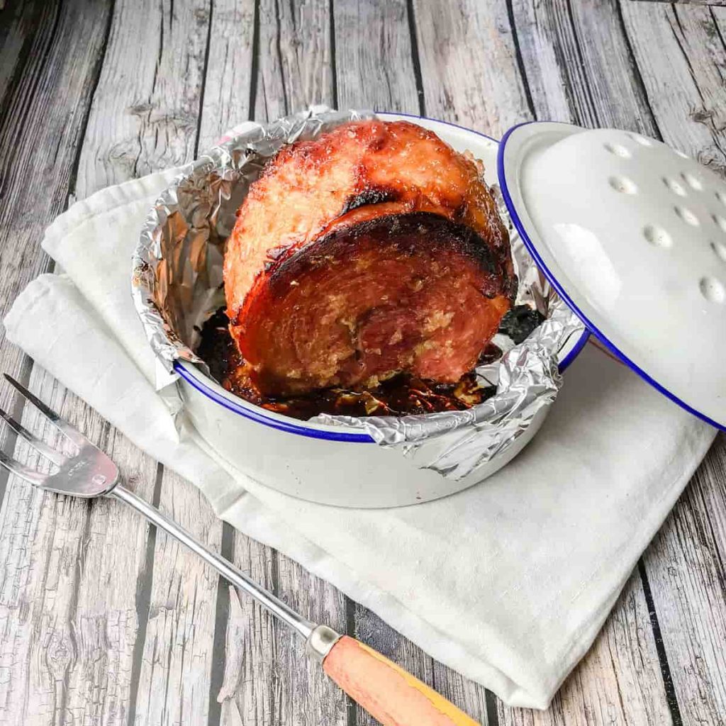
<path id="1" fill-rule="evenodd" d="M 473 129 L 467 129 L 465 126 L 459 126 L 457 123 L 449 123 L 449 121 L 439 121 L 439 119 L 436 118 L 428 118 L 427 116 L 415 116 L 410 113 L 395 113 L 392 111 L 380 111 L 376 113 L 381 114 L 387 114 L 391 116 L 403 116 L 404 118 L 417 118 L 422 121 L 434 121 L 436 123 L 441 123 L 444 126 L 452 126 L 454 129 L 460 129 L 461 131 L 466 131 L 468 134 L 475 134 L 476 136 L 481 136 L 484 139 L 488 139 L 489 141 L 493 141 L 495 144 L 499 144 L 499 153 L 501 153 L 502 149 L 502 142 L 497 142 L 497 139 L 493 139 L 492 136 L 487 136 L 486 134 L 482 134 L 480 131 L 473 131 Z M 507 136 L 510 132 L 507 132 Z M 505 139 L 507 138 L 505 136 Z M 497 158 L 497 161 L 501 156 Z M 501 179 L 501 174 L 499 174 L 499 178 Z M 506 199 L 507 197 L 505 197 Z M 511 210 L 511 204 L 510 201 L 507 201 L 507 208 L 510 208 Z M 514 219 L 514 218 L 513 218 Z M 517 229 L 519 230 L 520 234 L 523 234 L 521 227 L 518 225 Z M 527 245 L 527 248 L 531 251 L 531 247 L 529 245 L 528 240 L 526 237 L 523 236 L 523 239 L 525 240 L 525 243 Z M 535 257 L 535 259 L 537 259 Z M 549 277 L 549 275 L 547 276 Z M 590 337 L 590 331 L 585 330 L 584 333 L 580 336 L 580 339 L 577 341 L 575 346 L 572 348 L 572 350 L 563 358 L 562 362 L 560 362 L 558 369 L 560 370 L 560 373 L 564 372 L 568 366 L 571 364 L 571 362 L 576 359 L 576 357 L 579 355 L 580 351 L 582 351 L 582 348 L 584 347 L 584 344 L 587 343 L 587 338 Z M 265 409 L 254 407 L 254 408 L 247 408 L 242 406 L 242 404 L 238 404 L 236 401 L 230 401 L 225 396 L 222 396 L 219 391 L 215 391 L 210 386 L 207 386 L 205 383 L 201 382 L 200 380 L 197 380 L 192 373 L 190 373 L 184 366 L 181 364 L 180 361 L 176 360 L 174 361 L 174 371 L 179 374 L 180 378 L 183 378 L 187 383 L 189 383 L 189 386 L 192 386 L 192 388 L 195 388 L 196 391 L 199 391 L 203 394 L 203 396 L 206 396 L 208 399 L 211 399 L 215 403 L 219 404 L 220 406 L 223 406 L 224 408 L 228 409 L 229 411 L 232 411 L 240 416 L 244 416 L 245 418 L 248 418 L 252 421 L 255 421 L 256 423 L 261 423 L 266 426 L 269 426 L 270 428 L 276 428 L 278 431 L 285 431 L 286 433 L 295 433 L 298 436 L 307 436 L 310 439 L 323 439 L 324 441 L 346 441 L 348 443 L 354 443 L 354 444 L 375 444 L 375 441 L 372 439 L 371 436 L 369 436 L 367 433 L 346 433 L 344 431 L 319 431 L 314 428 L 308 428 L 305 425 L 301 425 L 299 423 L 294 423 L 292 419 L 290 420 L 278 420 L 277 418 L 272 418 L 269 415 L 266 415 Z"/>

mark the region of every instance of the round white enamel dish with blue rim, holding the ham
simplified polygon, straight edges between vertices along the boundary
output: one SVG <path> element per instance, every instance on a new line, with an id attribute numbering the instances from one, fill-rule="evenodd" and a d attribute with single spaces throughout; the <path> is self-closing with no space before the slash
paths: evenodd
<path id="1" fill-rule="evenodd" d="M 442 121 L 379 113 L 387 121 L 405 118 L 435 131 L 458 151 L 484 161 L 486 180 L 497 183 L 499 144 L 488 136 Z M 568 340 L 560 371 L 579 354 L 589 333 Z M 194 364 L 177 360 L 179 388 L 189 420 L 216 452 L 256 481 L 285 494 L 343 507 L 395 507 L 444 497 L 482 481 L 513 459 L 542 425 L 544 406 L 510 446 L 476 473 L 454 481 L 417 468 L 416 457 L 375 444 L 367 433 L 345 426 L 295 420 L 232 395 Z"/>

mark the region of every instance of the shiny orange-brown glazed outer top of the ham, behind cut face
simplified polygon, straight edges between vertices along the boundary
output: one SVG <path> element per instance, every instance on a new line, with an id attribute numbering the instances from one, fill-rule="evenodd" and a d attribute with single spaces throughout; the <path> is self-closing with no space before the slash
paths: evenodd
<path id="1" fill-rule="evenodd" d="M 413 123 L 356 121 L 282 147 L 250 187 L 224 258 L 233 325 L 266 264 L 365 208 L 435 212 L 468 224 L 513 279 L 507 231 L 476 163 Z"/>

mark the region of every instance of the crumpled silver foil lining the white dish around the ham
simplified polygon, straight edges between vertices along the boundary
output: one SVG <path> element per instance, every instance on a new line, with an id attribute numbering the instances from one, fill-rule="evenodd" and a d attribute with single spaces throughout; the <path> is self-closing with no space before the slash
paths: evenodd
<path id="1" fill-rule="evenodd" d="M 131 287 L 144 330 L 162 364 L 159 386 L 168 383 L 177 358 L 199 365 L 208 375 L 206 364 L 194 352 L 200 328 L 224 304 L 224 245 L 237 208 L 266 161 L 284 144 L 374 116 L 313 107 L 266 126 L 256 125 L 189 164 L 158 198 L 134 253 Z M 518 345 L 502 335 L 494 339 L 504 356 L 478 367 L 476 373 L 484 383 L 496 383 L 497 393 L 465 411 L 402 417 L 319 415 L 311 421 L 366 431 L 376 443 L 415 457 L 420 468 L 458 480 L 501 454 L 555 399 L 562 383 L 558 352 L 571 336 L 582 334 L 583 325 L 539 272 L 497 187 L 493 192 L 510 231 L 519 278 L 516 303 L 528 304 L 546 318 Z"/>

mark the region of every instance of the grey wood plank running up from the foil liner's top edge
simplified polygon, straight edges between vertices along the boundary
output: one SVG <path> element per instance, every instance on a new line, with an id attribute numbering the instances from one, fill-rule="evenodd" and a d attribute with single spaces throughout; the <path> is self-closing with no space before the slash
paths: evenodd
<path id="1" fill-rule="evenodd" d="M 335 106 L 330 1 L 259 0 L 256 121 Z"/>

